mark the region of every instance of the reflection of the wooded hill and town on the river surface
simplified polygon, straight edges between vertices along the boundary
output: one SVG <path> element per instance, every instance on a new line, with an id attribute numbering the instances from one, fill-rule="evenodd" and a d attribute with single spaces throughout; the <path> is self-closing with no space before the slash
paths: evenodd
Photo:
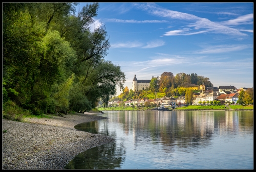
<path id="1" fill-rule="evenodd" d="M 238 111 L 123 111 L 109 113 L 122 124 L 123 134 L 133 134 L 134 145 L 145 139 L 168 146 L 208 145 L 214 132 L 225 135 L 239 130 Z M 113 115 L 113 116 L 112 116 Z M 117 117 L 114 117 L 117 115 Z"/>

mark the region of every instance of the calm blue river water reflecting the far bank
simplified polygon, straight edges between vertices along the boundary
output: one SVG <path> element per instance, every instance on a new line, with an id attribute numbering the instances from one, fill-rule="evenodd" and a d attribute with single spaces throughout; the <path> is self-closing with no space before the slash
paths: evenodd
<path id="1" fill-rule="evenodd" d="M 116 141 L 66 169 L 253 169 L 253 111 L 105 111 L 75 129 Z"/>

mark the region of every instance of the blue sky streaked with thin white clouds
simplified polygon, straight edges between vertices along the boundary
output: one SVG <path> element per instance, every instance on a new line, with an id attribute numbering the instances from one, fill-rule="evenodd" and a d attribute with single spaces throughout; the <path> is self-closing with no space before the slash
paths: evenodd
<path id="1" fill-rule="evenodd" d="M 253 3 L 99 3 L 91 30 L 100 24 L 111 45 L 105 60 L 121 67 L 129 90 L 135 74 L 163 72 L 253 87 Z"/>

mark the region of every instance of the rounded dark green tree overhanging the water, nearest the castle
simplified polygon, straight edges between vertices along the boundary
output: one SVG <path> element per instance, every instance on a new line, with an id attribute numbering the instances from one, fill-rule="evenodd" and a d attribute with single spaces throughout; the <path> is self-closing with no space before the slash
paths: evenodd
<path id="1" fill-rule="evenodd" d="M 79 78 L 84 95 L 92 102 L 93 108 L 99 99 L 106 106 L 110 96 L 116 94 L 117 86 L 123 89 L 124 72 L 121 71 L 120 66 L 104 60 L 87 70 L 90 72 L 85 77 Z"/>

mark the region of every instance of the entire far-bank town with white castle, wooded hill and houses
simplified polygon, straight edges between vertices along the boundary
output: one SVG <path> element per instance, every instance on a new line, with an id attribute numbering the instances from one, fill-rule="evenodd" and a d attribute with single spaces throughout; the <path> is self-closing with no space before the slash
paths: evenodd
<path id="1" fill-rule="evenodd" d="M 197 83 L 197 84 L 191 84 Z M 244 105 L 253 104 L 253 88 L 235 86 L 214 87 L 209 78 L 196 73 L 163 72 L 161 77 L 138 80 L 136 75 L 132 89 L 113 97 L 108 107 L 151 107 L 173 105 Z"/>

